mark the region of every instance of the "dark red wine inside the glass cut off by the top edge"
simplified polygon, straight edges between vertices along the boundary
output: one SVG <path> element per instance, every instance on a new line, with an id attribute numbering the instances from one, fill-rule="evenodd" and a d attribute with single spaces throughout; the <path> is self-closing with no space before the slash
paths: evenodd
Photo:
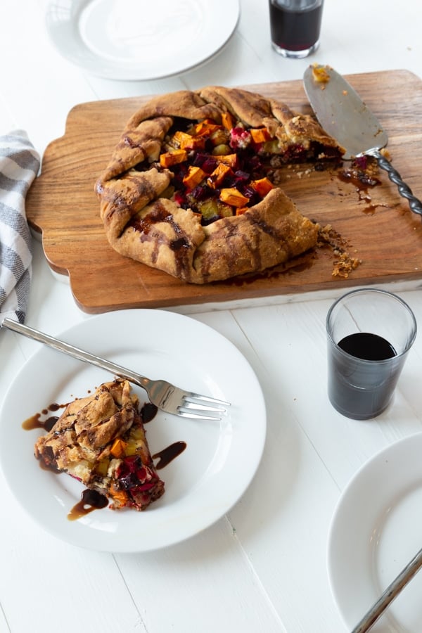
<path id="1" fill-rule="evenodd" d="M 286 51 L 307 51 L 319 40 L 322 5 L 304 11 L 292 11 L 269 4 L 271 40 Z"/>

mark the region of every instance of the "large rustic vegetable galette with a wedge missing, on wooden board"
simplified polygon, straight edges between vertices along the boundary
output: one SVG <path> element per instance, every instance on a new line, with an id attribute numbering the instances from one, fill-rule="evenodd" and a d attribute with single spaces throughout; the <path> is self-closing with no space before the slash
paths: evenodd
<path id="1" fill-rule="evenodd" d="M 271 173 L 343 153 L 313 117 L 259 94 L 157 96 L 129 120 L 96 182 L 106 236 L 190 283 L 262 271 L 313 248 L 318 234 Z"/>

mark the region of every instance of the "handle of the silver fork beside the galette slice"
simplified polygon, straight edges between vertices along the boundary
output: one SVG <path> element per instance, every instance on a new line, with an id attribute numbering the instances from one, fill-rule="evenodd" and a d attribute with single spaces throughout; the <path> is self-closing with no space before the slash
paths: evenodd
<path id="1" fill-rule="evenodd" d="M 71 356 L 72 358 L 76 358 L 85 363 L 95 365 L 96 367 L 100 367 L 101 369 L 106 369 L 106 371 L 114 373 L 115 376 L 120 376 L 120 378 L 127 378 L 129 382 L 139 385 L 139 387 L 142 387 L 146 391 L 148 390 L 148 385 L 150 381 L 145 376 L 140 376 L 139 373 L 134 373 L 134 371 L 131 371 L 130 369 L 126 369 L 104 358 L 95 356 L 94 354 L 90 354 L 89 352 L 85 352 L 84 350 L 80 350 L 79 347 L 74 347 L 74 345 L 70 345 L 70 343 L 65 343 L 63 340 L 58 340 L 57 338 L 54 338 L 49 334 L 45 334 L 44 332 L 40 332 L 39 330 L 30 328 L 30 326 L 18 323 L 18 321 L 13 321 L 13 319 L 10 319 L 8 316 L 4 317 L 1 323 L 1 327 L 7 328 L 8 330 L 12 330 L 14 332 L 18 332 L 19 334 L 23 334 L 24 336 L 27 336 L 27 338 L 38 340 L 39 343 L 44 343 L 49 347 L 53 347 L 53 350 L 58 350 L 58 352 L 68 354 L 68 356 Z"/>

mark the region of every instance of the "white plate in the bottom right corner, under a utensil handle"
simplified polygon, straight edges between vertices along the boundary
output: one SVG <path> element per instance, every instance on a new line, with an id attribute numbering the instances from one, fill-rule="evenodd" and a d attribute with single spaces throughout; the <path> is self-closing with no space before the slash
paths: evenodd
<path id="1" fill-rule="evenodd" d="M 370 459 L 345 488 L 328 539 L 333 596 L 349 629 L 363 618 L 422 547 L 422 433 Z M 421 633 L 422 572 L 373 626 Z"/>

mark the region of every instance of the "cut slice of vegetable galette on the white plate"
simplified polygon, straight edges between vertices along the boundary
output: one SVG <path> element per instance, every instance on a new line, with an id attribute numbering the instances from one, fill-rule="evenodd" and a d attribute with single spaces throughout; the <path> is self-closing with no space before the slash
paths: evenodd
<path id="1" fill-rule="evenodd" d="M 144 510 L 164 492 L 139 399 L 122 379 L 70 402 L 49 433 L 37 440 L 35 456 L 108 497 L 111 509 Z"/>

